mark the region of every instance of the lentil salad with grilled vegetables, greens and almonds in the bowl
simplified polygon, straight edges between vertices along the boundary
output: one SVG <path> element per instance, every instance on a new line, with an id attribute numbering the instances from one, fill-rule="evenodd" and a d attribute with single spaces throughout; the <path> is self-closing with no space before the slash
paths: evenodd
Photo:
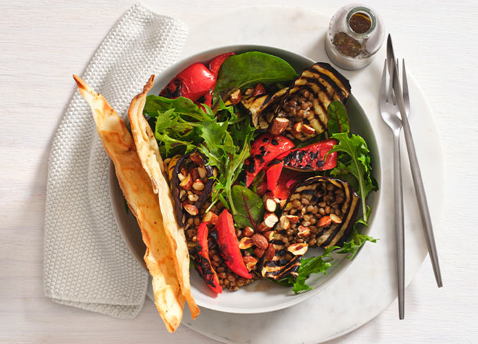
<path id="1" fill-rule="evenodd" d="M 360 233 L 377 183 L 367 142 L 350 131 L 350 92 L 328 63 L 296 71 L 230 52 L 146 97 L 175 219 L 211 290 L 267 278 L 303 292 L 332 252 L 351 259 L 376 241 Z"/>

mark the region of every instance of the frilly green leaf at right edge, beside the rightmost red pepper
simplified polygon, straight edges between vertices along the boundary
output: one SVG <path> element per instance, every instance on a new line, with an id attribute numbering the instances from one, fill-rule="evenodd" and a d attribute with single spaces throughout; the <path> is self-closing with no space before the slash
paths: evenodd
<path id="1" fill-rule="evenodd" d="M 337 166 L 330 172 L 333 176 L 351 174 L 358 182 L 357 193 L 362 199 L 362 211 L 364 221 L 368 221 L 367 204 L 365 198 L 370 191 L 378 189 L 377 183 L 371 178 L 371 156 L 365 140 L 358 135 L 348 133 L 334 133 L 332 138 L 338 140 L 338 144 L 329 153 L 339 152 Z M 329 154 L 328 153 L 328 154 Z"/>

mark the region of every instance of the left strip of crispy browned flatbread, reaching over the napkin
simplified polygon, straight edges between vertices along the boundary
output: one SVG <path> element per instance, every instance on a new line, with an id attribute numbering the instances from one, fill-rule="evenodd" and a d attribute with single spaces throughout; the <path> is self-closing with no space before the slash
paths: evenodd
<path id="1" fill-rule="evenodd" d="M 98 136 L 115 165 L 116 176 L 127 203 L 141 228 L 146 244 L 144 261 L 153 277 L 155 305 L 166 329 L 174 332 L 181 323 L 184 297 L 178 283 L 175 256 L 166 239 L 160 204 L 151 189 L 127 127 L 105 98 L 78 76 L 73 76 L 96 122 Z"/>

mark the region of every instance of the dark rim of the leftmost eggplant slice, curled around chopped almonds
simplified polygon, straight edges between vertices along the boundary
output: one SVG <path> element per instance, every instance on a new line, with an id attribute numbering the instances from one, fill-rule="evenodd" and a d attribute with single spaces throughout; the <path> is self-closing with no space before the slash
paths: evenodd
<path id="1" fill-rule="evenodd" d="M 180 200 L 180 178 L 178 177 L 182 164 L 191 156 L 191 154 L 196 153 L 198 154 L 203 161 L 204 164 L 204 169 L 206 169 L 206 176 L 208 177 L 208 182 L 204 184 L 204 190 L 202 191 L 201 195 L 199 195 L 199 198 L 197 199 L 196 202 L 194 202 L 194 205 L 196 206 L 197 209 L 200 209 L 204 202 L 208 199 L 210 192 L 213 189 L 213 184 L 214 184 L 214 179 L 213 179 L 213 167 L 211 167 L 208 164 L 208 160 L 206 160 L 206 157 L 202 155 L 202 153 L 199 153 L 199 151 L 191 151 L 189 153 L 186 153 L 182 155 L 179 160 L 177 160 L 176 165 L 174 166 L 173 170 L 173 175 L 171 178 L 171 191 L 173 193 L 173 200 L 174 200 L 174 210 L 176 214 L 176 219 L 177 222 L 179 222 L 180 226 L 184 226 L 184 217 L 185 214 L 183 211 L 183 206 L 181 204 Z"/>

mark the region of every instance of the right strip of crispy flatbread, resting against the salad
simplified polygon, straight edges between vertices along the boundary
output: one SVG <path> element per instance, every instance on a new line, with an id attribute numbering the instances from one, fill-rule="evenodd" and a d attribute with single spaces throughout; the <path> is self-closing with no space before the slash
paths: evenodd
<path id="1" fill-rule="evenodd" d="M 165 177 L 166 171 L 164 171 L 164 164 L 160 150 L 157 147 L 154 133 L 143 116 L 146 94 L 153 86 L 153 80 L 154 75 L 152 75 L 146 85 L 144 85 L 143 92 L 135 96 L 131 101 L 131 105 L 129 105 L 128 109 L 129 122 L 131 122 L 131 133 L 133 134 L 136 151 L 138 152 L 144 171 L 148 173 L 151 179 L 153 191 L 157 193 L 158 199 L 160 200 L 166 237 L 168 237 L 169 244 L 173 248 L 173 252 L 175 252 L 176 272 L 177 277 L 179 277 L 181 291 L 188 302 L 191 316 L 195 319 L 199 314 L 199 308 L 191 294 L 189 252 L 186 237 L 184 236 L 183 228 L 180 228 L 176 221 L 173 195 L 171 194 L 169 184 Z"/>

